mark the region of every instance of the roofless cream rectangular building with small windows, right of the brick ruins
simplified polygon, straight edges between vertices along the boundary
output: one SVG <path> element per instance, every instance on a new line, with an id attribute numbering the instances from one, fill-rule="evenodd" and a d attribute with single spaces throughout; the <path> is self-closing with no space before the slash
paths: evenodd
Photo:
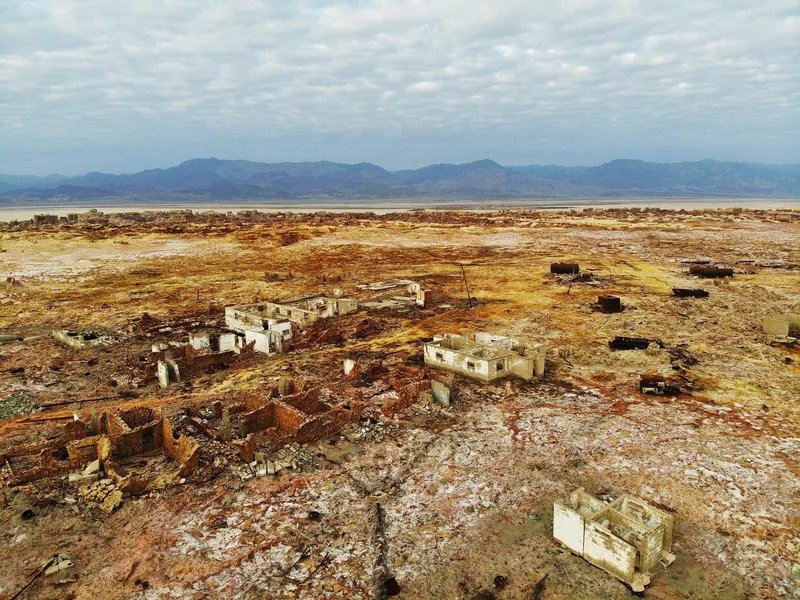
<path id="1" fill-rule="evenodd" d="M 425 343 L 425 364 L 482 381 L 516 376 L 525 381 L 544 376 L 544 344 L 486 332 L 436 335 Z"/>

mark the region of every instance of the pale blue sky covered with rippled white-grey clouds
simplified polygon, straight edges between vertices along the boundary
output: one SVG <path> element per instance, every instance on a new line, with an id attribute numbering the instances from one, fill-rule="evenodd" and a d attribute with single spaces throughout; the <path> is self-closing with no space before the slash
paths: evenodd
<path id="1" fill-rule="evenodd" d="M 0 0 L 0 173 L 800 162 L 797 0 Z"/>

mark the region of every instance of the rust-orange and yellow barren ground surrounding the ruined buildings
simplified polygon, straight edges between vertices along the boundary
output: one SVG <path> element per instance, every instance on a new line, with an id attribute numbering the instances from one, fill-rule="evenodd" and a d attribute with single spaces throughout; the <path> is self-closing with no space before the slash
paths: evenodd
<path id="1" fill-rule="evenodd" d="M 345 355 L 419 361 L 421 340 L 444 331 L 548 344 L 543 381 L 459 378 L 449 409 L 412 408 L 369 443 L 327 440 L 336 444 L 321 444 L 318 468 L 241 483 L 228 468 L 207 476 L 217 459 L 205 451 L 196 476 L 125 498 L 111 515 L 66 477 L 3 489 L 0 597 L 58 552 L 75 567 L 38 577 L 20 598 L 378 598 L 387 573 L 400 598 L 527 599 L 543 577 L 546 600 L 631 598 L 552 540 L 552 502 L 579 486 L 675 515 L 677 560 L 645 597 L 788 599 L 800 589 L 800 351 L 770 344 L 760 327 L 800 312 L 798 211 L 94 215 L 0 227 L 0 250 L 0 332 L 26 338 L 0 346 L 0 406 L 24 397 L 34 409 L 0 422 L 0 453 L 53 435 L 73 411 L 146 403 L 172 415 L 281 374 L 337 379 Z M 736 274 L 696 280 L 688 260 Z M 549 276 L 555 261 L 595 277 L 569 286 Z M 265 283 L 267 271 L 294 276 Z M 344 279 L 322 283 L 330 274 Z M 157 341 L 128 333 L 143 312 L 206 319 L 211 304 L 356 294 L 392 278 L 436 283 L 452 301 L 365 312 L 355 318 L 375 321 L 370 337 L 262 357 L 190 387 L 126 383 L 125 357 Z M 672 287 L 711 295 L 678 299 Z M 593 310 L 598 294 L 620 296 L 624 312 Z M 70 350 L 49 337 L 57 328 L 116 343 Z M 615 335 L 665 349 L 612 353 Z M 675 350 L 697 364 L 676 364 Z M 645 372 L 677 377 L 691 394 L 643 396 Z M 22 520 L 28 507 L 35 516 Z"/>

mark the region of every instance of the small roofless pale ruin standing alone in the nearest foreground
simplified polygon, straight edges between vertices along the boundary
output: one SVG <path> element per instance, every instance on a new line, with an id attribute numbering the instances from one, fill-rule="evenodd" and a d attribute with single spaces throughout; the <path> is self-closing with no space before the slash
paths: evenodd
<path id="1" fill-rule="evenodd" d="M 650 570 L 669 566 L 673 517 L 633 496 L 598 500 L 583 488 L 553 503 L 553 537 L 572 552 L 642 592 Z"/>

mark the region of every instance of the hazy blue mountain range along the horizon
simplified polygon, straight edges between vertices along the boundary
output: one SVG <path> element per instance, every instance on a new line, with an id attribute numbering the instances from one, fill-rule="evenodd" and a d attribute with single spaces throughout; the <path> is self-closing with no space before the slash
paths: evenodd
<path id="1" fill-rule="evenodd" d="M 503 167 L 491 160 L 387 171 L 359 163 L 198 158 L 169 169 L 79 177 L 0 175 L 0 203 L 289 198 L 800 197 L 800 165 L 613 160 L 598 167 Z"/>

